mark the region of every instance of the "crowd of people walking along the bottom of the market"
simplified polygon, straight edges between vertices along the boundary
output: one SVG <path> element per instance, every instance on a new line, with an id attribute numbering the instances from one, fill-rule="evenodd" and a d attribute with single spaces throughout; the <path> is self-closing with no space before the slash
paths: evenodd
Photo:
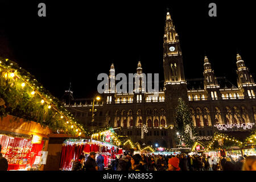
<path id="1" fill-rule="evenodd" d="M 103 171 L 101 155 L 90 152 L 88 159 L 80 156 L 73 163 L 73 171 Z M 113 171 L 256 171 L 256 156 L 240 156 L 235 161 L 232 156 L 200 155 L 154 155 L 124 154 L 112 162 Z"/>

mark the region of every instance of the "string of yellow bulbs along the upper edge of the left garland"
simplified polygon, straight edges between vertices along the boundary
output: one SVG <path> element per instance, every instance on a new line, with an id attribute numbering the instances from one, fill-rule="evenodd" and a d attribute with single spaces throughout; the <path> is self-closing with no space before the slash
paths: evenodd
<path id="1" fill-rule="evenodd" d="M 6 62 L 9 61 L 9 59 L 6 59 Z M 11 62 L 11 61 L 10 61 Z M 6 64 L 6 63 L 5 63 Z M 73 119 L 75 118 L 71 118 L 68 116 L 67 113 L 60 111 L 57 106 L 55 104 L 53 104 L 52 102 L 52 98 L 50 98 L 49 96 L 44 96 L 42 93 L 40 93 L 38 91 L 39 86 L 37 86 L 38 89 L 36 89 L 35 84 L 31 84 L 29 82 L 29 79 L 24 79 L 21 75 L 19 75 L 19 72 L 13 68 L 11 68 L 11 66 L 13 65 L 13 63 L 10 63 L 7 67 L 5 65 L 2 65 L 2 61 L 0 61 L 0 72 L 3 73 L 4 77 L 6 79 L 11 78 L 13 81 L 20 81 L 20 87 L 21 88 L 25 88 L 26 86 L 28 86 L 29 88 L 31 88 L 31 92 L 30 92 L 30 96 L 34 97 L 34 96 L 39 96 L 41 98 L 40 104 L 47 105 L 48 109 L 53 109 L 56 111 L 56 114 L 60 114 L 60 118 L 63 119 L 63 122 L 65 123 L 65 125 L 67 127 L 70 127 L 72 130 L 76 131 L 76 134 L 78 134 L 79 136 L 82 134 L 82 132 L 84 132 L 83 127 L 79 124 L 76 123 L 75 121 L 73 121 Z M 20 68 L 21 69 L 21 68 Z M 34 79 L 35 80 L 35 79 Z M 18 84 L 19 85 L 19 84 Z M 40 86 L 40 88 L 43 88 L 42 86 Z M 48 97 L 48 98 L 47 98 Z M 67 110 L 65 110 L 67 111 Z M 54 116 L 55 116 L 54 115 Z"/>

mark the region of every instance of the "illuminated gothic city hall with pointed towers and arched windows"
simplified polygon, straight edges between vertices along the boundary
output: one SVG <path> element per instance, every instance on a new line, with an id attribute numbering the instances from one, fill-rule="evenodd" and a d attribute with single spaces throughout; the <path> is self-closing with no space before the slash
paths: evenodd
<path id="1" fill-rule="evenodd" d="M 256 119 L 256 84 L 246 67 L 242 57 L 237 54 L 234 64 L 237 64 L 237 86 L 223 84 L 224 78 L 216 77 L 210 60 L 204 57 L 201 88 L 195 89 L 184 76 L 183 58 L 179 36 L 175 30 L 170 13 L 166 15 L 163 43 L 163 72 L 164 85 L 158 94 L 143 92 L 117 93 L 109 85 L 109 89 L 101 94 L 101 100 L 74 99 L 73 92 L 65 91 L 65 108 L 69 110 L 80 123 L 86 127 L 113 128 L 117 134 L 130 137 L 134 142 L 175 148 L 174 129 L 164 127 L 174 125 L 175 107 L 177 100 L 182 98 L 189 106 L 197 139 L 207 139 L 220 130 L 222 125 L 251 125 L 255 127 Z M 203 61 L 203 60 L 202 60 Z M 143 64 L 138 62 L 137 74 L 143 73 Z M 115 78 L 114 64 L 110 66 L 109 78 Z M 193 82 L 200 81 L 193 80 Z M 225 81 L 224 81 L 225 82 Z M 141 84 L 141 83 L 140 83 Z M 92 108 L 94 121 L 92 122 Z M 141 127 L 147 126 L 147 133 L 142 139 Z M 216 126 L 214 126 L 216 125 Z M 224 125 L 224 126 L 225 126 Z M 233 127 L 239 130 L 241 128 Z"/>

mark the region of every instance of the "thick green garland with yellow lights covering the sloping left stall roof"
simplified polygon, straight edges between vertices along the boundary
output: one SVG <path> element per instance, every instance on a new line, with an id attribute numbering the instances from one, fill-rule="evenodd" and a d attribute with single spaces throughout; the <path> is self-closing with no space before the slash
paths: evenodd
<path id="1" fill-rule="evenodd" d="M 14 61 L 0 58 L 0 85 L 1 118 L 10 114 L 59 133 L 84 133 L 83 127 L 61 102 Z"/>

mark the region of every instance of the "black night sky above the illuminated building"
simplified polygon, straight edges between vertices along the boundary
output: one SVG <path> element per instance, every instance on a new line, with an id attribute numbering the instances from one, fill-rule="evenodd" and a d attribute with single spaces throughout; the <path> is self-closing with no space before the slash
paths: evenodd
<path id="1" fill-rule="evenodd" d="M 38 16 L 45 2 L 47 17 Z M 254 79 L 255 14 L 250 1 L 6 1 L 0 3 L 0 56 L 35 75 L 54 96 L 72 82 L 75 97 L 90 97 L 97 75 L 144 73 L 163 80 L 163 32 L 166 7 L 179 34 L 186 78 L 203 77 L 206 54 L 216 76 L 236 84 L 237 50 Z M 208 16 L 210 2 L 217 17 Z"/>

